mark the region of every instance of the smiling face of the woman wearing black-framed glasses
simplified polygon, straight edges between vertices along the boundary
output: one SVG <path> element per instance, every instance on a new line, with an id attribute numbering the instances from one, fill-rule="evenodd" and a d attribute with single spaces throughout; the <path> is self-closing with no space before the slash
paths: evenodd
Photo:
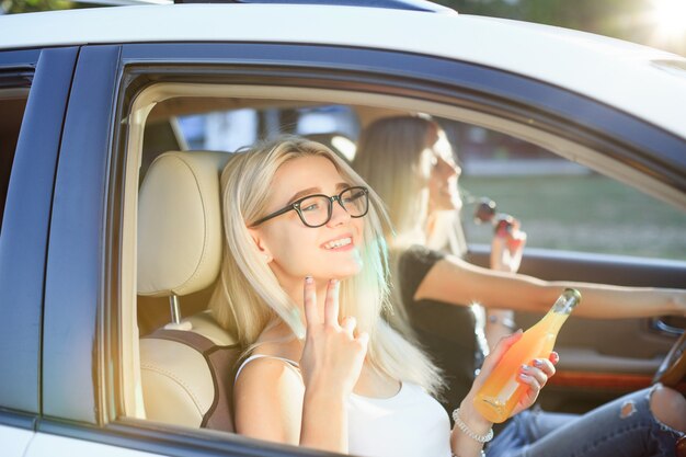
<path id="1" fill-rule="evenodd" d="M 351 183 L 321 156 L 293 159 L 279 167 L 272 182 L 265 214 L 312 194 L 338 195 Z M 301 286 L 305 276 L 342 279 L 362 269 L 364 217 L 352 218 L 333 202 L 331 219 L 321 227 L 305 226 L 290 210 L 250 229 L 282 286 Z"/>

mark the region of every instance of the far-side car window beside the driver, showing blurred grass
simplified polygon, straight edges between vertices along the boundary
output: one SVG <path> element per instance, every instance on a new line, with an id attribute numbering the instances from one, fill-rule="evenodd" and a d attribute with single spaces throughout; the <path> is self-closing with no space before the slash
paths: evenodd
<path id="1" fill-rule="evenodd" d="M 465 124 L 454 132 L 469 242 L 490 243 L 492 228 L 472 217 L 488 197 L 522 221 L 529 248 L 686 259 L 683 210 L 508 135 Z"/>

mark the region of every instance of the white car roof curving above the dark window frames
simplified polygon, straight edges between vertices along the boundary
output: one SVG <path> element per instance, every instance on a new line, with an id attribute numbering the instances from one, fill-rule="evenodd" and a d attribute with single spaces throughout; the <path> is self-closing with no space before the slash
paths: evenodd
<path id="1" fill-rule="evenodd" d="M 172 4 L 5 15 L 0 16 L 0 49 L 251 42 L 341 45 L 446 57 L 562 87 L 686 138 L 685 58 L 540 24 L 361 7 Z"/>

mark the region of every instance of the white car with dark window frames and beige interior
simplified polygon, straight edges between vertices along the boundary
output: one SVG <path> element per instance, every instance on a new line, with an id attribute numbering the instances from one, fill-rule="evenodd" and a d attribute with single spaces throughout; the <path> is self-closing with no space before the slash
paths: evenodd
<path id="1" fill-rule="evenodd" d="M 229 356 L 240 352 L 203 313 L 216 278 L 211 265 L 202 281 L 179 286 L 187 279 L 179 270 L 188 269 L 192 255 L 164 244 L 186 245 L 193 230 L 220 224 L 218 209 L 194 206 L 201 198 L 194 183 L 207 183 L 217 196 L 229 155 L 199 149 L 229 152 L 289 132 L 325 137 L 345 156 L 375 118 L 431 115 L 456 141 L 461 133 L 461 144 L 501 135 L 527 150 L 545 149 L 558 169 L 581 164 L 586 176 L 637 188 L 651 196 L 649 207 L 665 203 L 671 222 L 659 230 L 683 233 L 685 58 L 423 1 L 304 3 L 0 16 L 5 456 L 321 455 L 201 426 L 220 387 L 198 353 L 188 354 L 194 368 L 164 378 L 203 377 L 188 407 L 193 418 L 172 402 L 178 386 L 150 380 L 185 357 L 182 343 L 156 336 L 168 322 L 168 330 L 205 332 Z M 173 163 L 191 174 L 169 171 Z M 645 214 L 630 212 L 637 225 Z M 573 219 L 584 220 L 584 212 Z M 628 244 L 636 244 L 631 237 Z M 201 240 L 192 254 L 216 266 L 214 242 Z M 527 248 L 523 272 L 685 287 L 686 262 L 671 259 L 670 250 L 628 256 L 622 247 L 614 253 Z M 484 264 L 488 250 L 471 245 L 468 256 Z M 517 317 L 523 324 L 534 319 Z M 549 405 L 584 409 L 650 385 L 673 346 L 668 364 L 679 361 L 684 327 L 679 317 L 570 319 Z M 230 401 L 230 379 L 224 388 Z"/>

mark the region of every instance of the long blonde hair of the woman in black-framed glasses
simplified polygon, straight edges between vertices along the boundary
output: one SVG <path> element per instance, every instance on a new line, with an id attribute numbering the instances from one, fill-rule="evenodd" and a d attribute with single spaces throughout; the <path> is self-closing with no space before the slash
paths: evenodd
<path id="1" fill-rule="evenodd" d="M 302 336 L 298 306 L 279 286 L 264 262 L 248 227 L 263 217 L 270 183 L 285 162 L 307 156 L 329 159 L 351 185 L 366 185 L 350 165 L 325 146 L 299 137 L 282 137 L 237 152 L 221 173 L 225 255 L 220 281 L 210 299 L 217 321 L 243 345 L 254 343 L 267 325 L 284 321 Z M 354 316 L 359 330 L 369 333 L 367 361 L 388 376 L 419 384 L 437 393 L 443 386 L 438 369 L 424 353 L 381 319 L 390 312 L 389 266 L 384 236 L 388 217 L 378 195 L 369 190 L 365 216 L 362 272 L 341 282 L 340 312 Z"/>

